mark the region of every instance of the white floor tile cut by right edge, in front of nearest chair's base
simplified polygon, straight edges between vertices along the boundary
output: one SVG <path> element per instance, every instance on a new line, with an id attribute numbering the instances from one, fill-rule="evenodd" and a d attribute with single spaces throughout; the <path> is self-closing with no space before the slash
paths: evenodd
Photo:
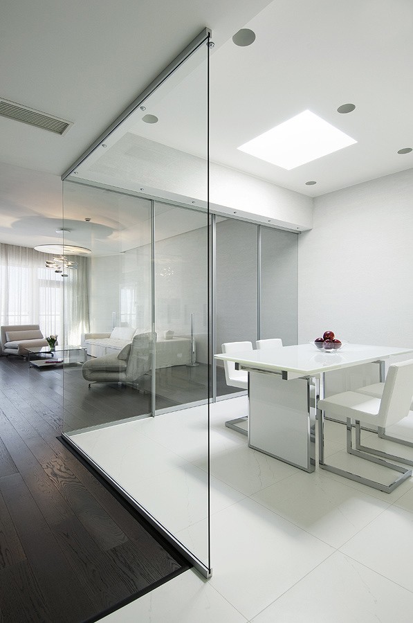
<path id="1" fill-rule="evenodd" d="M 340 548 L 370 569 L 413 591 L 413 514 L 394 505 Z"/>

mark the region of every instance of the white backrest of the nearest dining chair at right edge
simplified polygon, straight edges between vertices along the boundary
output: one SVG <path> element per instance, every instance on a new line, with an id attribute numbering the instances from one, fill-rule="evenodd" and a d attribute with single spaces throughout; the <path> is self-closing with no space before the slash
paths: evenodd
<path id="1" fill-rule="evenodd" d="M 389 366 L 378 410 L 378 426 L 391 426 L 409 413 L 413 394 L 413 359 Z"/>

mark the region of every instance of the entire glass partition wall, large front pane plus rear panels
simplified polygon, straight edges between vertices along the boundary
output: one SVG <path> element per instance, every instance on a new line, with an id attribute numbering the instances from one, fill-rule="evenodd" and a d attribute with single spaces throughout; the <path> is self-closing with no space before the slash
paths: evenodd
<path id="1" fill-rule="evenodd" d="M 64 253 L 84 255 L 64 278 L 67 293 L 77 270 L 64 437 L 205 577 L 210 487 L 225 503 L 209 474 L 210 401 L 239 392 L 212 354 L 297 341 L 297 235 L 210 217 L 208 43 L 73 165 L 62 226 Z"/>

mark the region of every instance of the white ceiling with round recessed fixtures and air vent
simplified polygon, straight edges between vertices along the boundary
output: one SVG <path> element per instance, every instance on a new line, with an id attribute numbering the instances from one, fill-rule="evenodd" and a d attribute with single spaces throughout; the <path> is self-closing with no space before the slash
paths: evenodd
<path id="1" fill-rule="evenodd" d="M 45 240 L 26 225 L 43 216 L 54 227 L 59 176 L 204 26 L 215 43 L 212 161 L 313 197 L 413 167 L 413 152 L 396 153 L 413 147 L 412 0 L 3 0 L 0 96 L 73 127 L 57 136 L 0 117 L 0 242 L 53 242 L 54 229 Z M 241 48 L 232 35 L 243 27 L 257 38 Z M 196 102 L 190 78 L 187 88 L 185 132 L 163 124 L 162 141 L 202 156 L 185 108 Z M 348 102 L 356 110 L 338 114 Z M 291 171 L 237 150 L 304 109 L 358 143 Z"/>

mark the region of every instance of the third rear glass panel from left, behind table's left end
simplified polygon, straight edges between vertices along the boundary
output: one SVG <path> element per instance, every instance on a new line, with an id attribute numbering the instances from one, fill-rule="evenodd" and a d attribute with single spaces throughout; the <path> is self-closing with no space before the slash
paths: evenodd
<path id="1" fill-rule="evenodd" d="M 217 352 L 226 342 L 257 340 L 257 225 L 235 219 L 217 222 Z M 226 384 L 217 363 L 217 396 L 242 391 Z"/>

